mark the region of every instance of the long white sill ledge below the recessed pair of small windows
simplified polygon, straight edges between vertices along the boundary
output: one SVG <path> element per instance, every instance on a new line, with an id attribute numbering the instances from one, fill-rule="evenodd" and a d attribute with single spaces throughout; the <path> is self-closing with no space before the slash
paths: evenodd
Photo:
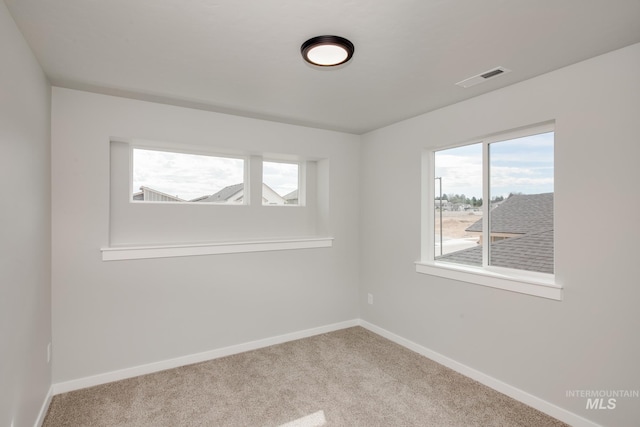
<path id="1" fill-rule="evenodd" d="M 237 254 L 246 252 L 284 251 L 291 249 L 329 248 L 333 237 L 307 237 L 185 245 L 118 246 L 100 249 L 103 261 L 171 258 L 180 256 Z"/>

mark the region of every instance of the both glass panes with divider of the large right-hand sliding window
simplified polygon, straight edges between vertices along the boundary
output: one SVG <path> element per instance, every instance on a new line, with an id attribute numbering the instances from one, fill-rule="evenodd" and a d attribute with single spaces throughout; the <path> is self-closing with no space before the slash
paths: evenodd
<path id="1" fill-rule="evenodd" d="M 554 132 L 434 152 L 434 261 L 554 273 Z"/>

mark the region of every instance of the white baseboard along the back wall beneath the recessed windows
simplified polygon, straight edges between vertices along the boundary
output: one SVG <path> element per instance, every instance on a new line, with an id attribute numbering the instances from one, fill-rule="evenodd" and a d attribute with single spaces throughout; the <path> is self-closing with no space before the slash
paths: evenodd
<path id="1" fill-rule="evenodd" d="M 278 335 L 271 338 L 264 338 L 257 341 L 251 341 L 243 344 L 232 345 L 229 347 L 209 350 L 202 353 L 190 354 L 187 356 L 176 357 L 174 359 L 162 360 L 160 362 L 149 363 L 132 368 L 125 368 L 118 371 L 106 372 L 104 374 L 93 375 L 90 377 L 79 378 L 76 380 L 55 383 L 52 385 L 53 395 L 66 393 L 69 391 L 80 390 L 87 387 L 93 387 L 100 384 L 106 384 L 113 381 L 119 381 L 127 378 L 133 378 L 140 375 L 151 374 L 166 369 L 178 368 L 180 366 L 191 365 L 207 360 L 218 359 L 220 357 L 231 356 L 233 354 L 243 353 L 245 351 L 256 350 L 263 347 L 269 347 L 276 344 L 282 344 L 288 341 L 294 341 L 301 338 L 307 338 L 314 335 L 320 335 L 327 332 L 333 332 L 340 329 L 358 326 L 359 319 L 347 320 L 344 322 L 334 323 L 331 325 L 320 326 L 303 331 L 291 332 L 284 335 Z"/>

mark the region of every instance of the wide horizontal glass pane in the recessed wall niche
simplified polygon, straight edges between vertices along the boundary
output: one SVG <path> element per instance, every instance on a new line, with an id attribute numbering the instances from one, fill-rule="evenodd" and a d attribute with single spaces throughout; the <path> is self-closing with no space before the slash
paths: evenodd
<path id="1" fill-rule="evenodd" d="M 244 160 L 133 149 L 133 200 L 243 203 Z"/>

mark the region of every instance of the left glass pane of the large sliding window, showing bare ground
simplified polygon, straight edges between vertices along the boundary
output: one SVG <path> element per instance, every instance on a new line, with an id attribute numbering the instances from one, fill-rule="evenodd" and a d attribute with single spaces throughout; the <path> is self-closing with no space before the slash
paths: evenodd
<path id="1" fill-rule="evenodd" d="M 435 259 L 481 266 L 481 143 L 435 153 L 434 194 Z"/>

